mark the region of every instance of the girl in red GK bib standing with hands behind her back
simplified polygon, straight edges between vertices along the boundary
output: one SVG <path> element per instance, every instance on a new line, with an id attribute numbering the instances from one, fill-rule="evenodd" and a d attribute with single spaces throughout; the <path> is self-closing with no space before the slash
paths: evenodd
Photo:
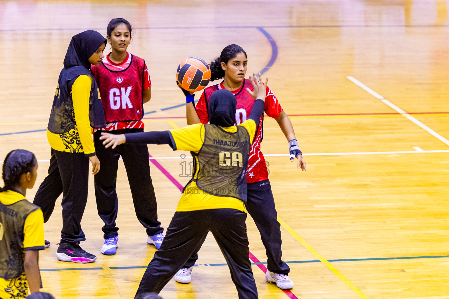
<path id="1" fill-rule="evenodd" d="M 98 83 L 107 126 L 94 134 L 98 159 L 102 168 L 95 176 L 95 198 L 98 215 L 104 221 L 102 227 L 105 243 L 101 253 L 114 255 L 119 239 L 115 224 L 118 199 L 115 191 L 119 157 L 128 175 L 132 201 L 137 219 L 146 228 L 147 243 L 159 249 L 163 240 L 163 228 L 158 221 L 156 196 L 150 177 L 150 162 L 146 144 L 123 144 L 106 149 L 99 140 L 101 131 L 111 134 L 143 132 L 143 104 L 151 98 L 151 80 L 145 61 L 127 52 L 131 42 L 132 27 L 123 18 L 112 19 L 107 27 L 107 41 L 112 51 L 100 65 L 92 67 Z"/>

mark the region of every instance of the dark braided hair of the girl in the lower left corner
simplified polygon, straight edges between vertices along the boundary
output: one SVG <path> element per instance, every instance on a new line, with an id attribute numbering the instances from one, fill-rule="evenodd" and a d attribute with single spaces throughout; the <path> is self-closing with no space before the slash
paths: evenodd
<path id="1" fill-rule="evenodd" d="M 9 152 L 3 161 L 2 178 L 4 186 L 0 188 L 0 192 L 17 186 L 22 174 L 32 172 L 36 164 L 37 160 L 32 152 L 20 149 Z"/>

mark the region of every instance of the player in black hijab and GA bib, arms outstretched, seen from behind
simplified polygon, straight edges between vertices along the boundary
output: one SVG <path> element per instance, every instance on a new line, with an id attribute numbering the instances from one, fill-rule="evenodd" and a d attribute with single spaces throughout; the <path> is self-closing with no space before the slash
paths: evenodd
<path id="1" fill-rule="evenodd" d="M 268 79 L 267 79 L 268 80 Z M 257 299 L 247 238 L 247 164 L 250 145 L 264 111 L 266 83 L 252 78 L 255 99 L 248 119 L 235 123 L 237 100 L 231 91 L 215 91 L 209 100 L 210 124 L 194 124 L 163 132 L 101 133 L 105 147 L 123 144 L 169 144 L 190 151 L 194 174 L 184 187 L 175 215 L 158 251 L 142 277 L 135 299 L 159 293 L 198 250 L 209 231 L 229 265 L 238 298 Z"/>

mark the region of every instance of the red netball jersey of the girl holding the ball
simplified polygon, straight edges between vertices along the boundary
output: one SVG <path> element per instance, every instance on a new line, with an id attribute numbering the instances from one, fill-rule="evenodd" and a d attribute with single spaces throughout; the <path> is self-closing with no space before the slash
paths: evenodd
<path id="1" fill-rule="evenodd" d="M 242 87 L 240 87 L 238 90 L 231 91 L 237 99 L 237 110 L 235 113 L 236 125 L 241 124 L 242 122 L 247 120 L 247 117 L 250 116 L 251 110 L 254 106 L 255 100 L 246 91 L 247 88 L 249 88 L 251 91 L 253 90 L 251 82 L 249 80 L 243 79 Z M 201 94 L 198 104 L 195 107 L 198 117 L 203 124 L 207 124 L 207 122 L 209 121 L 209 115 L 207 114 L 207 104 L 209 101 L 209 97 L 218 89 L 225 89 L 225 87 L 223 86 L 223 82 L 205 88 L 203 93 Z M 276 96 L 268 86 L 267 96 L 265 98 L 264 104 L 264 111 L 269 117 L 273 118 L 279 117 L 279 113 L 281 113 L 282 111 L 282 107 L 277 101 Z M 268 179 L 269 171 L 267 169 L 267 165 L 265 164 L 264 155 L 260 151 L 260 142 L 263 138 L 263 124 L 264 115 L 262 114 L 253 143 L 251 144 L 251 152 L 247 167 L 248 183 L 260 182 Z"/>

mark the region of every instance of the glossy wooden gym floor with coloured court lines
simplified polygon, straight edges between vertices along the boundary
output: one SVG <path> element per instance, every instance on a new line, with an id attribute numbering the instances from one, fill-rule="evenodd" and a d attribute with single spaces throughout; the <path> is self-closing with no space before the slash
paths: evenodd
<path id="1" fill-rule="evenodd" d="M 295 287 L 267 284 L 264 264 L 254 264 L 260 298 L 449 298 L 446 1 L 0 1 L 0 159 L 16 148 L 36 154 L 31 201 L 48 169 L 45 128 L 70 38 L 87 29 L 106 35 L 113 17 L 133 24 L 129 52 L 150 69 L 147 131 L 186 125 L 176 66 L 189 56 L 210 61 L 230 43 L 247 51 L 248 71 L 265 71 L 291 116 L 307 172 L 290 163 L 269 117 L 262 149 Z M 151 170 L 167 227 L 176 186 L 188 178 L 180 177 L 181 152 L 149 149 L 161 157 Z M 100 253 L 93 177 L 82 246 L 97 262 L 57 261 L 60 201 L 44 225 L 52 246 L 40 254 L 43 290 L 56 298 L 133 298 L 155 249 L 135 217 L 123 164 L 118 176 L 115 256 Z M 247 226 L 253 262 L 266 261 L 250 217 Z M 192 283 L 172 280 L 161 296 L 237 298 L 224 263 L 208 237 Z"/>

